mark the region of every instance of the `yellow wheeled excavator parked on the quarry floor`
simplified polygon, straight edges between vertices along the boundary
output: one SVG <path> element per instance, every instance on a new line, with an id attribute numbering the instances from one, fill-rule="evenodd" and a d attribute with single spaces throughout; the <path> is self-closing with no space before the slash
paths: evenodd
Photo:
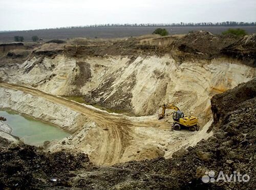
<path id="1" fill-rule="evenodd" d="M 194 116 L 184 116 L 183 112 L 180 111 L 179 107 L 174 104 L 163 104 L 162 113 L 158 115 L 158 119 L 162 119 L 165 116 L 165 110 L 171 109 L 175 110 L 173 113 L 173 128 L 174 130 L 180 130 L 181 127 L 189 128 L 190 131 L 199 130 L 199 126 L 197 125 L 198 119 Z"/>

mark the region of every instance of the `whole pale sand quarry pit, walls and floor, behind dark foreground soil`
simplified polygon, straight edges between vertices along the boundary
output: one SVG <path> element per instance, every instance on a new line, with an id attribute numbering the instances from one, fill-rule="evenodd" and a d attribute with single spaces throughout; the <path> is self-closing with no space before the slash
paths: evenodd
<path id="1" fill-rule="evenodd" d="M 194 35 L 217 39 L 206 32 Z M 98 166 L 171 158 L 177 150 L 214 134 L 207 132 L 213 122 L 211 97 L 248 82 L 256 72 L 249 58 L 240 60 L 221 52 L 224 48 L 227 52 L 229 45 L 218 44 L 221 39 L 209 55 L 209 49 L 203 52 L 194 47 L 197 44 L 189 47 L 185 40 L 190 38 L 44 44 L 23 60 L 4 55 L 0 108 L 72 133 L 60 141 L 45 142 L 46 152 L 87 153 Z M 172 131 L 172 110 L 157 119 L 163 103 L 174 103 L 186 115 L 197 116 L 200 130 Z"/>

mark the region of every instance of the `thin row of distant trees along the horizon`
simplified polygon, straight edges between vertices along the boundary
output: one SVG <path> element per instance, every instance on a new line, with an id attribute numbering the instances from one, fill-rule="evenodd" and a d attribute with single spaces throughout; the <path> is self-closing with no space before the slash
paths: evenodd
<path id="1" fill-rule="evenodd" d="M 96 27 L 119 27 L 119 26 L 133 26 L 133 27 L 146 27 L 146 26 L 256 26 L 256 22 L 234 22 L 234 21 L 225 21 L 225 22 L 180 22 L 180 23 L 113 23 L 113 24 L 90 24 L 90 25 L 80 25 L 80 26 L 66 26 L 66 27 L 57 27 L 53 29 L 79 29 L 79 28 L 96 28 Z"/>

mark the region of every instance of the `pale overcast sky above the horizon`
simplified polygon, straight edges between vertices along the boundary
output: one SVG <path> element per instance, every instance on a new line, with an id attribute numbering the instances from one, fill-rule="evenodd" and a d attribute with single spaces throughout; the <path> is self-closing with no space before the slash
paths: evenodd
<path id="1" fill-rule="evenodd" d="M 0 0 L 0 31 L 217 21 L 256 21 L 256 0 Z"/>

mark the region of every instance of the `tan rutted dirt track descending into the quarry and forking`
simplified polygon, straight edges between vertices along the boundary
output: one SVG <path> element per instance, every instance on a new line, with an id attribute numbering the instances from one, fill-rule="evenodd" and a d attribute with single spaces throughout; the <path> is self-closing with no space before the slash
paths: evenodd
<path id="1" fill-rule="evenodd" d="M 29 93 L 33 96 L 44 98 L 50 102 L 65 105 L 71 110 L 83 114 L 89 120 L 97 123 L 98 126 L 102 127 L 100 131 L 100 142 L 98 148 L 98 158 L 95 164 L 97 165 L 113 165 L 119 162 L 118 160 L 122 157 L 125 149 L 125 145 L 129 144 L 127 141 L 131 141 L 136 138 L 143 139 L 140 135 L 136 134 L 133 127 L 166 127 L 169 128 L 169 124 L 156 120 L 143 120 L 138 121 L 137 118 L 128 117 L 121 114 L 110 114 L 94 110 L 86 105 L 79 104 L 74 101 L 67 100 L 62 97 L 47 94 L 37 89 L 18 86 L 8 83 L 0 83 L 0 87 L 8 88 L 12 90 L 22 91 Z"/>

